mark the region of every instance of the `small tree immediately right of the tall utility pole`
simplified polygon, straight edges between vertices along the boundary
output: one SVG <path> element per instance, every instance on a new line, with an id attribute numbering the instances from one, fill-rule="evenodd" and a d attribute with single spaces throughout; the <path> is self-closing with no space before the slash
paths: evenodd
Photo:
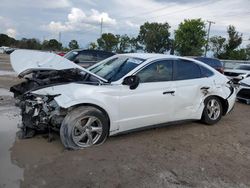
<path id="1" fill-rule="evenodd" d="M 213 36 L 210 38 L 211 50 L 214 52 L 214 56 L 218 57 L 224 50 L 226 38 L 221 36 Z"/>

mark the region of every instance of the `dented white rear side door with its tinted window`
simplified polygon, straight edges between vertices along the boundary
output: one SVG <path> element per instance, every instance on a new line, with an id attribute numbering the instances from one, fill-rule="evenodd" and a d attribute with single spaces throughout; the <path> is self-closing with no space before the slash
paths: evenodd
<path id="1" fill-rule="evenodd" d="M 174 61 L 176 120 L 197 119 L 202 113 L 205 93 L 212 87 L 211 80 L 202 73 L 202 68 L 190 60 Z"/>

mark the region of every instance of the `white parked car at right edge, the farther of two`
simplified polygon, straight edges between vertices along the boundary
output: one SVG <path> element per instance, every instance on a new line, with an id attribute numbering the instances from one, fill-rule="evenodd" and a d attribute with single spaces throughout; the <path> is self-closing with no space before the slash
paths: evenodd
<path id="1" fill-rule="evenodd" d="M 250 64 L 239 64 L 234 69 L 226 69 L 224 74 L 238 83 L 240 80 L 250 77 Z"/>

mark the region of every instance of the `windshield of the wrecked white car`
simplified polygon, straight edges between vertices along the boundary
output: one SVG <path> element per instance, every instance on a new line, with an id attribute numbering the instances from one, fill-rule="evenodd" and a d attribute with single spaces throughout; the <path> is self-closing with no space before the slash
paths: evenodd
<path id="1" fill-rule="evenodd" d="M 114 82 L 125 76 L 143 61 L 144 59 L 120 56 L 90 68 L 90 71 L 109 82 Z"/>

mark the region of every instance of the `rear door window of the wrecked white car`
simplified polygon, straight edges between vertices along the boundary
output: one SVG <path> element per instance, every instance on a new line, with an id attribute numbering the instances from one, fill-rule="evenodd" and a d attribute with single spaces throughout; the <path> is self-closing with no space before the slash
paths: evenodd
<path id="1" fill-rule="evenodd" d="M 189 80 L 201 77 L 199 65 L 188 60 L 174 61 L 174 80 Z"/>

